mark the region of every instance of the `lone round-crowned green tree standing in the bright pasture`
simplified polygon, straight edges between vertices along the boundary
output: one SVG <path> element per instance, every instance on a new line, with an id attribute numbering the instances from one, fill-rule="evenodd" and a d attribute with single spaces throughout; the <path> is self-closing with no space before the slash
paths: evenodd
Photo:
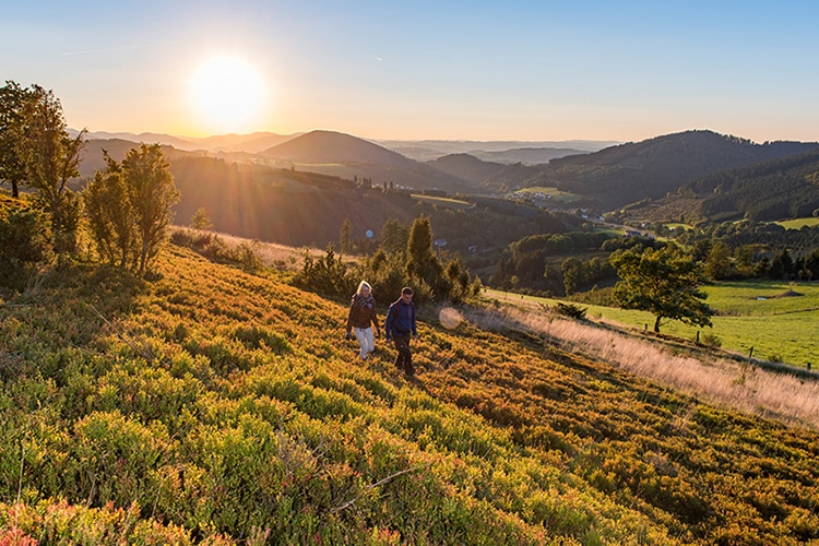
<path id="1" fill-rule="evenodd" d="M 708 295 L 699 289 L 702 265 L 678 247 L 618 251 L 610 261 L 620 277 L 612 294 L 615 304 L 654 314 L 654 332 L 660 332 L 664 319 L 711 325 L 714 311 L 702 301 Z"/>

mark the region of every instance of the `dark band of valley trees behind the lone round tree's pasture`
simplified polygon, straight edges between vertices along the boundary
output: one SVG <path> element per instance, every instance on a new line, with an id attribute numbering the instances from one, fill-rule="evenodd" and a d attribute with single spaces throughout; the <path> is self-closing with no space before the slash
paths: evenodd
<path id="1" fill-rule="evenodd" d="M 753 222 L 710 224 L 677 235 L 707 280 L 819 280 L 819 227 L 785 229 Z M 570 296 L 617 281 L 609 258 L 620 249 L 660 249 L 652 237 L 573 232 L 524 237 L 509 245 L 487 280 L 492 287 Z"/>

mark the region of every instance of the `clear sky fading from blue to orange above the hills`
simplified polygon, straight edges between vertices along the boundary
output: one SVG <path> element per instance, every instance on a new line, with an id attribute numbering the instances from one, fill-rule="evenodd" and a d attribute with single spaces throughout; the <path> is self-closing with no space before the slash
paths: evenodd
<path id="1" fill-rule="evenodd" d="M 178 136 L 819 141 L 819 2 L 0 0 L 0 75 Z"/>

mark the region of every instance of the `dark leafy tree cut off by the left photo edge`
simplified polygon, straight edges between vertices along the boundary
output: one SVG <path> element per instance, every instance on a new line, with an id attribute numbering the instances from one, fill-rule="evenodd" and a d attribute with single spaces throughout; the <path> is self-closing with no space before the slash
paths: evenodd
<path id="1" fill-rule="evenodd" d="M 25 163 L 20 157 L 19 138 L 23 128 L 23 109 L 29 90 L 13 81 L 0 87 L 0 183 L 11 185 L 11 195 L 20 197 L 19 187 L 25 183 Z"/>

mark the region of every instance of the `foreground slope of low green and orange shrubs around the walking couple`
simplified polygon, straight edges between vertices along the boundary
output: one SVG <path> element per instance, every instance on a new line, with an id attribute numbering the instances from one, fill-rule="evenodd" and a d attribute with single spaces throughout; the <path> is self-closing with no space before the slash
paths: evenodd
<path id="1" fill-rule="evenodd" d="M 158 270 L 0 307 L 7 535 L 819 538 L 815 432 L 468 324 L 424 322 L 408 383 L 389 348 L 356 359 L 343 305 L 177 248 Z"/>

